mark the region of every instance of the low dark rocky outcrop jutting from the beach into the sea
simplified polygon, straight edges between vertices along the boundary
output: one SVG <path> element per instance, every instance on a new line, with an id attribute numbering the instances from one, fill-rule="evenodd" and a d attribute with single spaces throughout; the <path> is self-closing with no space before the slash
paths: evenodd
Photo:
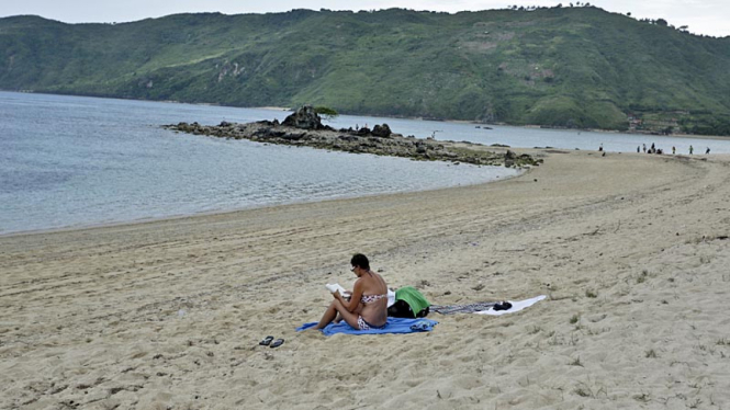
<path id="1" fill-rule="evenodd" d="M 281 124 L 278 121 L 248 124 L 223 122 L 217 126 L 179 123 L 165 127 L 212 137 L 404 157 L 414 160 L 518 168 L 538 166 L 542 161 L 541 159 L 536 160 L 529 155 L 518 156 L 505 148 L 486 147 L 481 144 L 404 137 L 393 133 L 388 124 L 375 125 L 372 130 L 370 128 L 334 129 L 323 125 L 314 110 L 306 106 L 288 116 Z"/>

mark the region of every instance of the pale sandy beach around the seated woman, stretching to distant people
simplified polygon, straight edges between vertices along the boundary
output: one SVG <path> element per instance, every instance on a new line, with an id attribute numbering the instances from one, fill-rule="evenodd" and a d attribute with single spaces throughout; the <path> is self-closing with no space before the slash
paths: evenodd
<path id="1" fill-rule="evenodd" d="M 496 183 L 0 237 L 0 409 L 720 409 L 730 157 L 517 150 Z M 366 253 L 433 332 L 296 333 Z M 285 339 L 259 346 L 266 335 Z"/>

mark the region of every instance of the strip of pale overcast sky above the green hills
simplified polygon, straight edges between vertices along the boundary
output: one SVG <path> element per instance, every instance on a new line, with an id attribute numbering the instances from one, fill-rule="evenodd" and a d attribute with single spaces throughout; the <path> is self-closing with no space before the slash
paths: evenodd
<path id="1" fill-rule="evenodd" d="M 291 9 L 380 10 L 390 8 L 457 12 L 503 9 L 507 5 L 552 7 L 555 0 L 0 0 L 0 16 L 35 14 L 67 23 L 130 22 L 187 12 L 224 14 L 282 12 Z M 583 3 L 584 1 L 581 1 Z M 730 35 L 730 0 L 596 0 L 593 5 L 637 19 L 664 19 L 674 26 L 687 25 L 696 34 Z M 568 5 L 570 1 L 562 1 Z"/>

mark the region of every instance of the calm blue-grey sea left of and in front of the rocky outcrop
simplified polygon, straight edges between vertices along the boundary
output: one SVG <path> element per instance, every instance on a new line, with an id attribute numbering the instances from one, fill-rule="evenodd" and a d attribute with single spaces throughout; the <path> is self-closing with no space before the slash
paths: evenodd
<path id="1" fill-rule="evenodd" d="M 160 127 L 181 121 L 283 119 L 288 114 L 0 92 L 0 235 L 431 190 L 517 173 Z"/>

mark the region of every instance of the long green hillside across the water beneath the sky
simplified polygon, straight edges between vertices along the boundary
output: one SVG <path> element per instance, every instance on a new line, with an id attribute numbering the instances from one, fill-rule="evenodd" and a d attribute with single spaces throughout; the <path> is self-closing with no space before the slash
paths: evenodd
<path id="1" fill-rule="evenodd" d="M 730 135 L 730 37 L 587 8 L 0 19 L 0 89 Z M 667 129 L 669 130 L 669 129 Z"/>

